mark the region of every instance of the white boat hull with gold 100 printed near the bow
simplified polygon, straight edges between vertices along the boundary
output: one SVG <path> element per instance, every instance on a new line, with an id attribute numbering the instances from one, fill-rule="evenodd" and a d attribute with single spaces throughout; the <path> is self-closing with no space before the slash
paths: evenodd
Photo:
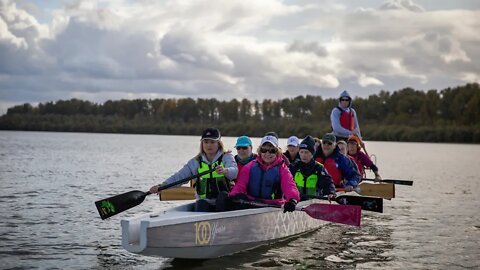
<path id="1" fill-rule="evenodd" d="M 267 207 L 204 213 L 193 212 L 193 204 L 187 203 L 122 220 L 122 245 L 127 251 L 148 256 L 216 258 L 314 230 L 325 223 L 302 211 L 284 214 L 282 209 Z"/>

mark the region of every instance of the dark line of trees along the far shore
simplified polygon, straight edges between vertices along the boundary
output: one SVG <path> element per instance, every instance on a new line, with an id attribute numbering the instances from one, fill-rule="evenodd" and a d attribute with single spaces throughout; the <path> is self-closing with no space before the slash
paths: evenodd
<path id="1" fill-rule="evenodd" d="M 135 99 L 103 104 L 70 99 L 8 109 L 1 130 L 199 135 L 218 127 L 224 136 L 321 137 L 331 130 L 338 99 L 297 96 L 279 100 Z M 478 83 L 441 91 L 404 88 L 356 97 L 363 138 L 379 141 L 480 142 Z"/>

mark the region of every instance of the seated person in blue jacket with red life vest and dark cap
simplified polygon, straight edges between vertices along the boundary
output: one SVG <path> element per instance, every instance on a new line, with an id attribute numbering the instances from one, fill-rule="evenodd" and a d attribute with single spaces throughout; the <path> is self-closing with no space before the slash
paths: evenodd
<path id="1" fill-rule="evenodd" d="M 340 153 L 336 145 L 335 135 L 327 133 L 322 137 L 322 145 L 315 152 L 315 160 L 323 164 L 328 174 L 332 176 L 336 188 L 353 191 L 360 182 L 361 176 L 355 164 Z"/>

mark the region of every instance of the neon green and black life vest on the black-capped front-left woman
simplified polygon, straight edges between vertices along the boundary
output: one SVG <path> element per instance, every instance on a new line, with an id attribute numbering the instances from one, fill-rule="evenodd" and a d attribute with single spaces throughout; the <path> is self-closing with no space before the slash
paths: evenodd
<path id="1" fill-rule="evenodd" d="M 204 161 L 199 161 L 198 173 L 200 174 L 202 172 L 208 171 L 212 168 L 217 167 L 218 165 L 223 166 L 222 158 L 223 155 L 221 155 L 211 165 L 205 163 Z M 195 188 L 200 198 L 215 199 L 217 198 L 220 191 L 230 191 L 230 183 L 224 175 L 218 174 L 216 171 L 213 171 L 209 174 L 202 175 L 200 179 L 197 180 Z"/>

